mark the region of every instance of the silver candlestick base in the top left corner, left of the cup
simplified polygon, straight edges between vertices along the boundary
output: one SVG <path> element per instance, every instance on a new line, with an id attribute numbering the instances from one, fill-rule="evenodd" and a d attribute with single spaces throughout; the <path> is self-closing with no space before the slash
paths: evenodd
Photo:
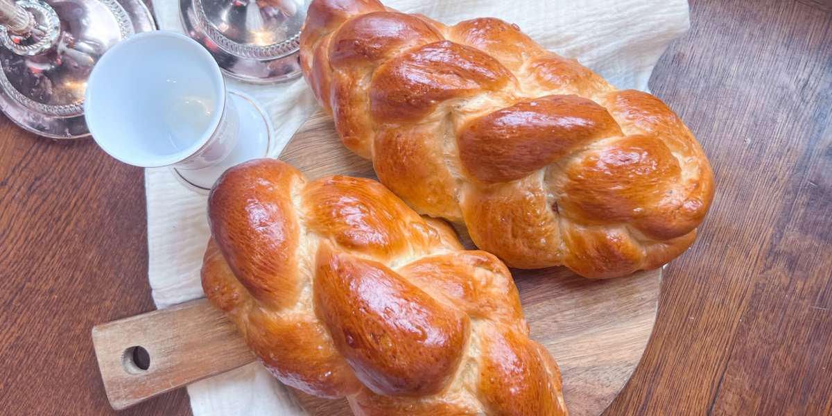
<path id="1" fill-rule="evenodd" d="M 41 136 L 88 136 L 92 67 L 117 42 L 155 28 L 141 0 L 0 0 L 0 110 Z"/>

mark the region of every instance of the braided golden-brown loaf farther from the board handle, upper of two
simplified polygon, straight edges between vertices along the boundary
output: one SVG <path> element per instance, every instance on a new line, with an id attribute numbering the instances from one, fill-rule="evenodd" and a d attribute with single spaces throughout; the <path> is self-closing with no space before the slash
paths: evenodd
<path id="1" fill-rule="evenodd" d="M 419 213 L 464 222 L 508 265 L 616 277 L 696 238 L 711 166 L 676 114 L 516 25 L 314 0 L 300 42 L 344 145 Z"/>

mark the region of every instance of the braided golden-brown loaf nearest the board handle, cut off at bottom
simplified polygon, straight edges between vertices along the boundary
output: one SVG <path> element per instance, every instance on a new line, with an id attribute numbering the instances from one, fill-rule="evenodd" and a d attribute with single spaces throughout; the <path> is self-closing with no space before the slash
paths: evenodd
<path id="1" fill-rule="evenodd" d="M 506 266 L 378 182 L 263 159 L 208 204 L 203 289 L 283 383 L 356 414 L 567 414 Z"/>

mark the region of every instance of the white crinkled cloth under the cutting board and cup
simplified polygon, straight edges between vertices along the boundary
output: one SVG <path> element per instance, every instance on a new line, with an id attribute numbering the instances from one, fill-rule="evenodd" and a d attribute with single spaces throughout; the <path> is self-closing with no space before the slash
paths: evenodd
<path id="1" fill-rule="evenodd" d="M 161 29 L 182 32 L 176 0 L 154 0 Z M 404 12 L 453 23 L 500 17 L 544 47 L 576 57 L 619 88 L 647 89 L 656 61 L 689 26 L 686 0 L 387 0 Z M 268 87 L 227 80 L 259 100 L 272 117 L 275 154 L 317 108 L 303 79 Z M 156 306 L 203 296 L 199 270 L 208 239 L 206 196 L 181 186 L 166 169 L 145 171 L 149 279 Z M 285 387 L 249 364 L 188 386 L 196 416 L 303 414 Z"/>

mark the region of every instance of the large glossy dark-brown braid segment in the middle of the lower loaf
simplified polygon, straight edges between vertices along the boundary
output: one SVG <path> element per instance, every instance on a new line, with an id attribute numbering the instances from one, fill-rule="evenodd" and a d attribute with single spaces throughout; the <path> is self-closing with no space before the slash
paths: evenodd
<path id="1" fill-rule="evenodd" d="M 321 245 L 313 291 L 336 348 L 374 393 L 437 394 L 457 368 L 468 315 L 384 265 Z"/>

